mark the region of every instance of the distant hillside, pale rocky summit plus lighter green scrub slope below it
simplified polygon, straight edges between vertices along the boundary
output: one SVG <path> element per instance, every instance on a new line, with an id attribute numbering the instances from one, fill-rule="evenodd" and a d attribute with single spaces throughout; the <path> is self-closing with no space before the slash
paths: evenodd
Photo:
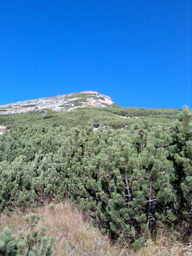
<path id="1" fill-rule="evenodd" d="M 1 105 L 0 135 L 18 124 L 73 127 L 85 126 L 91 122 L 117 129 L 142 118 L 153 123 L 163 122 L 170 125 L 175 122 L 181 110 L 124 108 L 115 105 L 109 96 L 95 91 L 84 91 Z"/>

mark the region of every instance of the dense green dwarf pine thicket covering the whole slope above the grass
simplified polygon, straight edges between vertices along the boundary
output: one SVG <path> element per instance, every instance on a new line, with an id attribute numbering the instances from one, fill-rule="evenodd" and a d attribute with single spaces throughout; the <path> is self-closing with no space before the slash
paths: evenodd
<path id="1" fill-rule="evenodd" d="M 113 239 L 135 248 L 165 226 L 189 241 L 191 110 L 46 111 L 0 115 L 0 124 L 10 129 L 0 136 L 1 211 L 67 196 Z M 93 122 L 101 124 L 97 131 Z"/>

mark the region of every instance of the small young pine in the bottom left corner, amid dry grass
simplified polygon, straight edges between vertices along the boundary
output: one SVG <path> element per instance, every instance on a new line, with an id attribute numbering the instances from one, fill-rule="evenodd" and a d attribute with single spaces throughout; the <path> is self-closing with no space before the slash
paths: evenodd
<path id="1" fill-rule="evenodd" d="M 0 233 L 0 255 L 2 256 L 54 256 L 55 238 L 45 236 L 46 227 L 42 226 L 38 233 L 34 230 L 40 216 L 33 214 L 26 216 L 30 231 L 26 237 L 22 232 L 13 235 L 9 227 Z"/>

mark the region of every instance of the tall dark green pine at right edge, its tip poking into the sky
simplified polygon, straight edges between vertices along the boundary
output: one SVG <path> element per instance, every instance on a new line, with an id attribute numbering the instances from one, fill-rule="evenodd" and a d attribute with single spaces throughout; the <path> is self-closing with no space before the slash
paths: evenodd
<path id="1" fill-rule="evenodd" d="M 177 202 L 175 211 L 187 234 L 192 232 L 192 113 L 184 106 L 171 145 L 171 159 L 175 166 Z"/>

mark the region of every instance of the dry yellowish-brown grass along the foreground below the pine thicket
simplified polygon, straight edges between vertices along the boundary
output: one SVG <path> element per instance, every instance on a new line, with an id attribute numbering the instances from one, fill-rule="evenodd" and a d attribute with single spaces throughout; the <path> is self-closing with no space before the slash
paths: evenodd
<path id="1" fill-rule="evenodd" d="M 192 247 L 175 242 L 169 243 L 162 235 L 154 243 L 147 241 L 147 245 L 138 252 L 133 252 L 126 243 L 115 245 L 109 237 L 104 236 L 98 228 L 83 220 L 78 210 L 71 210 L 69 203 L 58 203 L 51 209 L 49 205 L 38 208 L 36 213 L 42 215 L 37 229 L 45 225 L 47 235 L 55 236 L 56 256 L 189 256 Z M 27 225 L 21 212 L 14 212 L 10 217 L 2 214 L 0 217 L 0 232 L 10 226 L 16 234 L 19 230 L 27 232 Z"/>

